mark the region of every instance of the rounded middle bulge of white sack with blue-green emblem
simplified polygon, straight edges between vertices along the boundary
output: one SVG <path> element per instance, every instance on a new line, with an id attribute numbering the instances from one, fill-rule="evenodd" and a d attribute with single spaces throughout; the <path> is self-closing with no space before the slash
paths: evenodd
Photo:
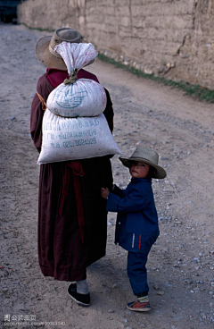
<path id="1" fill-rule="evenodd" d="M 53 89 L 46 105 L 53 114 L 73 118 L 102 114 L 106 102 L 101 84 L 90 79 L 78 79 L 73 84 L 61 83 Z"/>

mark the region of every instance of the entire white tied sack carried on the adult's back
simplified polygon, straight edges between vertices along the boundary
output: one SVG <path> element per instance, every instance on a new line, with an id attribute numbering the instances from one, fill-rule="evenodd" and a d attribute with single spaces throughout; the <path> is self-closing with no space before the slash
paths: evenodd
<path id="1" fill-rule="evenodd" d="M 77 80 L 78 71 L 98 55 L 95 47 L 62 42 L 54 51 L 62 56 L 70 79 L 47 98 L 37 163 L 121 154 L 103 114 L 107 102 L 103 86 L 90 79 Z"/>

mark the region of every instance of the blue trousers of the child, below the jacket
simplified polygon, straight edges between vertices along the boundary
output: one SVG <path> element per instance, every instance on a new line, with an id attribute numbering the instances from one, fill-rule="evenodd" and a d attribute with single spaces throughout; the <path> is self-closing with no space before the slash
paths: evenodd
<path id="1" fill-rule="evenodd" d="M 128 251 L 128 278 L 134 295 L 149 291 L 145 268 L 147 257 L 148 253 L 141 254 Z"/>

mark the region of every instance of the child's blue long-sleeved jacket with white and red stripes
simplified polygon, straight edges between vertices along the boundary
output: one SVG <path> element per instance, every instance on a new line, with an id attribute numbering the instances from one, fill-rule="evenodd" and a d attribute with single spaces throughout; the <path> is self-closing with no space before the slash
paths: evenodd
<path id="1" fill-rule="evenodd" d="M 116 244 L 132 252 L 150 251 L 160 234 L 151 179 L 132 178 L 126 190 L 116 187 L 108 196 L 106 210 L 118 213 Z"/>

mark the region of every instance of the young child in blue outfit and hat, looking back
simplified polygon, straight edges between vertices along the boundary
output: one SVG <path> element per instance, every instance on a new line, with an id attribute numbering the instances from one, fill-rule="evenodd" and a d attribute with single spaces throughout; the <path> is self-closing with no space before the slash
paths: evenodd
<path id="1" fill-rule="evenodd" d="M 152 244 L 159 236 L 158 215 L 154 205 L 152 178 L 164 178 L 167 173 L 158 165 L 159 156 L 151 148 L 138 146 L 131 157 L 119 157 L 132 176 L 126 190 L 114 185 L 110 192 L 102 188 L 107 198 L 107 211 L 117 212 L 115 243 L 128 250 L 128 278 L 137 300 L 128 303 L 131 311 L 149 311 L 149 286 L 146 262 Z"/>

